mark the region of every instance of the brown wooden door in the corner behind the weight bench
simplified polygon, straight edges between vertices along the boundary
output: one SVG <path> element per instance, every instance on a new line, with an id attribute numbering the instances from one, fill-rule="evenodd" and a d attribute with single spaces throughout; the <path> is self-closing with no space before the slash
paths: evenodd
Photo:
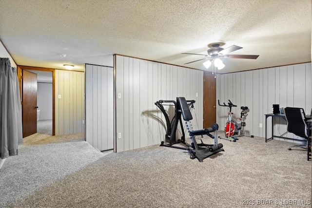
<path id="1" fill-rule="evenodd" d="M 211 127 L 215 123 L 216 81 L 211 72 L 204 72 L 204 123 L 203 127 Z"/>

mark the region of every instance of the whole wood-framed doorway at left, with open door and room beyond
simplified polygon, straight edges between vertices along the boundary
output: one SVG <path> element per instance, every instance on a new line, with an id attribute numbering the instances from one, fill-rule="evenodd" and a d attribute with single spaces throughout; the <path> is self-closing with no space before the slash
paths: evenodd
<path id="1" fill-rule="evenodd" d="M 29 73 L 35 75 L 31 80 L 26 77 Z M 22 100 L 23 137 L 36 132 L 55 135 L 55 70 L 18 66 L 18 76 Z M 33 94 L 31 99 L 26 89 L 29 86 Z"/>

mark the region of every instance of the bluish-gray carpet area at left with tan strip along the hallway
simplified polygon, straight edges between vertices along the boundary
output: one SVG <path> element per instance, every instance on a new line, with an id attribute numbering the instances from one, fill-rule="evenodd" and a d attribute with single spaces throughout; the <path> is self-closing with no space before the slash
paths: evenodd
<path id="1" fill-rule="evenodd" d="M 0 208 L 9 207 L 81 170 L 104 154 L 83 141 L 83 134 L 49 136 L 36 133 L 23 139 L 19 154 L 0 169 Z"/>

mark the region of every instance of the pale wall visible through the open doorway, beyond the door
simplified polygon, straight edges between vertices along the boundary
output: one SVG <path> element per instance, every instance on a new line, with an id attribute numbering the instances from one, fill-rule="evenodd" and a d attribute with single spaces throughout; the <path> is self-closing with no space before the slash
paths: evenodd
<path id="1" fill-rule="evenodd" d="M 52 83 L 37 83 L 37 106 L 40 114 L 39 120 L 52 120 Z"/>

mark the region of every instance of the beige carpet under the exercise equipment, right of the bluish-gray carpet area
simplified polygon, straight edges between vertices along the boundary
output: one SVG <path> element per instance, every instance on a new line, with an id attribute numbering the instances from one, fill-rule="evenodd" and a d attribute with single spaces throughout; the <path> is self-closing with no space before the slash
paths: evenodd
<path id="1" fill-rule="evenodd" d="M 220 142 L 225 151 L 203 163 L 158 145 L 111 153 L 12 207 L 311 207 L 306 151 L 256 137 Z"/>

